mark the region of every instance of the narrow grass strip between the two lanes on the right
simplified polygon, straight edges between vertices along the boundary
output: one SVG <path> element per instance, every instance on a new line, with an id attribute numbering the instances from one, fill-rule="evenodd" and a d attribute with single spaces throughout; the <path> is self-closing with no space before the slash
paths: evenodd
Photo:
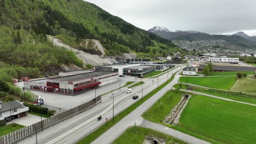
<path id="1" fill-rule="evenodd" d="M 178 88 L 179 85 L 182 85 L 181 89 L 186 89 L 188 85 L 185 84 L 176 84 L 173 87 Z M 243 101 L 246 103 L 256 104 L 256 94 L 248 94 L 248 93 L 242 93 L 242 92 L 228 92 L 228 91 L 222 91 L 217 89 L 207 89 L 207 88 L 201 88 L 201 87 L 193 87 L 193 91 L 195 92 L 201 92 L 206 94 L 215 95 L 217 97 L 237 100 L 237 101 Z"/>

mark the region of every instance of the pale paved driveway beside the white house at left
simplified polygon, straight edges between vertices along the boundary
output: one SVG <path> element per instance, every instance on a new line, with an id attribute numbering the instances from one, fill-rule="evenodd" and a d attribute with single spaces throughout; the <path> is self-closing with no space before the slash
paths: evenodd
<path id="1" fill-rule="evenodd" d="M 44 120 L 46 118 L 42 117 L 42 120 Z M 31 115 L 30 113 L 28 113 L 28 115 L 26 117 L 22 117 L 19 119 L 13 119 L 13 121 L 7 123 L 7 124 L 11 124 L 11 123 L 17 123 L 20 125 L 24 125 L 24 126 L 29 126 L 32 125 L 34 123 L 40 122 L 41 121 L 41 117 L 36 116 L 36 115 Z"/>

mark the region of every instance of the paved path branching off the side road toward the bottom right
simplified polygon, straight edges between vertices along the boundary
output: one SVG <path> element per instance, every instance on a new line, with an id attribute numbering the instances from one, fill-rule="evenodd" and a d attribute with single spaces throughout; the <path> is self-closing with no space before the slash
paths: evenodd
<path id="1" fill-rule="evenodd" d="M 179 140 L 192 143 L 192 144 L 210 144 L 210 142 L 206 142 L 204 140 L 197 139 L 196 137 L 190 136 L 188 134 L 181 133 L 180 131 L 165 127 L 162 124 L 149 122 L 146 119 L 140 125 L 144 128 L 154 129 L 156 131 L 160 131 L 161 133 L 165 133 L 167 135 L 171 135 L 176 137 Z"/>

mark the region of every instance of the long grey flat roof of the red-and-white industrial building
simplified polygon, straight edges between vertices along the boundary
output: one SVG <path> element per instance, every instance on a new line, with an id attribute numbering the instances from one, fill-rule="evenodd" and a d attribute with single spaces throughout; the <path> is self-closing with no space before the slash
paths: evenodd
<path id="1" fill-rule="evenodd" d="M 60 77 L 55 77 L 55 78 L 50 78 L 50 80 L 60 80 L 60 81 L 79 81 L 83 79 L 89 79 L 91 77 L 95 77 L 96 74 L 100 75 L 107 75 L 107 74 L 112 74 L 114 72 L 109 72 L 109 71 L 94 71 L 91 73 L 86 73 L 86 74 L 77 74 L 77 75 L 69 75 L 69 76 L 60 76 Z"/>

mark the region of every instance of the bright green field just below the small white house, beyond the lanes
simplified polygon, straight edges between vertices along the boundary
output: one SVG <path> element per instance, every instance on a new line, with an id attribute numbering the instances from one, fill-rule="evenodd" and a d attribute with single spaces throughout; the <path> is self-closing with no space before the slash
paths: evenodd
<path id="1" fill-rule="evenodd" d="M 224 77 L 181 77 L 181 82 L 191 83 L 194 85 L 218 88 L 218 89 L 230 89 L 236 82 L 236 76 L 224 76 Z"/>

